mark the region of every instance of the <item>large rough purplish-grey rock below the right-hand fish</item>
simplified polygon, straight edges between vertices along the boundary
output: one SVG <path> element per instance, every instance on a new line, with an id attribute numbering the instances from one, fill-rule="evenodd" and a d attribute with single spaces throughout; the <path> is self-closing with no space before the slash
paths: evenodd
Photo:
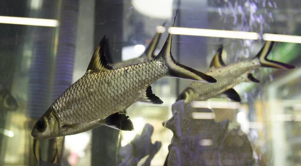
<path id="1" fill-rule="evenodd" d="M 173 116 L 163 122 L 174 133 L 165 165 L 254 163 L 253 150 L 247 135 L 239 129 L 228 132 L 228 119 L 216 122 L 210 118 L 210 114 L 213 114 L 211 109 L 192 107 L 191 103 L 184 104 L 184 100 L 174 103 L 172 112 Z M 203 119 L 193 116 L 203 116 Z"/>

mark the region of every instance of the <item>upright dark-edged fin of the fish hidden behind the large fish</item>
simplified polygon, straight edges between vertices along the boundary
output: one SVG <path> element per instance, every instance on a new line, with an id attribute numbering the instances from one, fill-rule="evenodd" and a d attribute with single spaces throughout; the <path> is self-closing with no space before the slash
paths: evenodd
<path id="1" fill-rule="evenodd" d="M 165 26 L 166 22 L 164 22 L 161 26 Z M 162 32 L 157 31 L 152 41 L 150 41 L 149 45 L 145 49 L 144 53 L 141 56 L 146 56 L 147 60 L 152 60 L 156 57 L 155 50 L 161 38 Z"/>

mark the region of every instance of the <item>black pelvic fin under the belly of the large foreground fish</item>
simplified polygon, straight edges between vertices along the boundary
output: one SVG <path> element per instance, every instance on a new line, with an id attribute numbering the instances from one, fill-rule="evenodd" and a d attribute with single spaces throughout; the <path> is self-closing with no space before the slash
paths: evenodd
<path id="1" fill-rule="evenodd" d="M 105 119 L 101 120 L 101 123 L 105 123 L 106 126 L 125 130 L 125 131 L 132 131 L 134 130 L 134 125 L 128 115 L 125 113 L 114 113 L 106 117 Z"/>

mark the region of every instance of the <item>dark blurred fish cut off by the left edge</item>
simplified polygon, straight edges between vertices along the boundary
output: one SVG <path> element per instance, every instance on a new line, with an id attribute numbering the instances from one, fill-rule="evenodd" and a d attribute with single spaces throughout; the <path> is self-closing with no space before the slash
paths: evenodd
<path id="1" fill-rule="evenodd" d="M 0 111 L 14 111 L 19 108 L 16 98 L 0 83 Z"/>

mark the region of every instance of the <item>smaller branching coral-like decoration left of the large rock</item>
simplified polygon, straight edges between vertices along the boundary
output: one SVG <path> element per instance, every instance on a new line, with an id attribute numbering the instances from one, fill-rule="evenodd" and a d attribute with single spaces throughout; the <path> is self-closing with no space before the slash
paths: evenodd
<path id="1" fill-rule="evenodd" d="M 154 144 L 152 143 L 152 139 L 150 138 L 153 134 L 154 127 L 148 123 L 146 123 L 143 127 L 141 135 L 136 135 L 135 138 L 123 146 L 119 150 L 119 156 L 123 158 L 123 161 L 118 166 L 125 165 L 137 165 L 138 162 L 149 155 L 142 166 L 150 165 L 150 161 L 154 158 L 155 154 L 161 148 L 161 142 L 156 141 Z"/>

